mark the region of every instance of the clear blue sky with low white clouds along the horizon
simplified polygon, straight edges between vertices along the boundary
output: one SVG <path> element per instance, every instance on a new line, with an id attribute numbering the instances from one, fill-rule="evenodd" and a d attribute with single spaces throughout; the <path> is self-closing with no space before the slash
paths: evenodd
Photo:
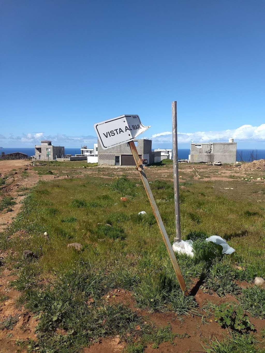
<path id="1" fill-rule="evenodd" d="M 265 148 L 264 1 L 0 2 L 0 146 L 92 145 L 138 114 L 153 147 Z M 227 131 L 228 130 L 228 131 Z"/>

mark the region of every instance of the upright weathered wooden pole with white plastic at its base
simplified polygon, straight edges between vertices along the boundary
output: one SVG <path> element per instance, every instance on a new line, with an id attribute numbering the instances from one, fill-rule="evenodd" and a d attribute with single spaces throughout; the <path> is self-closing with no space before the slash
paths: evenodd
<path id="1" fill-rule="evenodd" d="M 180 213 L 179 213 L 179 185 L 178 185 L 178 137 L 177 137 L 177 102 L 172 105 L 172 142 L 173 142 L 173 181 L 174 181 L 174 201 L 175 201 L 175 225 L 176 239 L 181 241 Z"/>

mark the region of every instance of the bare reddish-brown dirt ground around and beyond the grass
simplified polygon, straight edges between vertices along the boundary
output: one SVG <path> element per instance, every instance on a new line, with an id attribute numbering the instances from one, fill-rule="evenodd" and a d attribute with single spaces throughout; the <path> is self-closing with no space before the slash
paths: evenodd
<path id="1" fill-rule="evenodd" d="M 27 171 L 27 177 L 23 177 L 22 173 L 24 170 Z M 249 176 L 252 173 L 252 179 Z M 25 195 L 21 195 L 18 190 L 20 188 L 31 188 L 40 180 L 53 180 L 53 179 L 63 179 L 71 177 L 84 177 L 87 175 L 98 176 L 102 178 L 112 178 L 122 174 L 128 175 L 130 178 L 138 178 L 139 173 L 134 167 L 112 167 L 112 168 L 98 168 L 98 167 L 87 167 L 87 168 L 76 168 L 73 169 L 72 164 L 69 168 L 64 167 L 61 170 L 63 175 L 39 175 L 34 167 L 29 165 L 29 161 L 25 160 L 12 160 L 12 161 L 1 161 L 0 162 L 0 177 L 8 176 L 5 179 L 5 184 L 1 187 L 0 199 L 4 196 L 10 196 L 14 198 L 16 204 L 12 207 L 12 211 L 5 212 L 0 211 L 0 231 L 4 231 L 6 227 L 12 222 L 14 217 L 18 214 L 22 207 L 22 201 Z M 146 174 L 149 180 L 154 179 L 164 179 L 172 180 L 172 166 L 166 167 L 147 167 Z M 264 172 L 263 172 L 264 176 Z M 241 179 L 246 179 L 246 171 L 242 168 L 237 169 L 235 166 L 221 166 L 212 167 L 206 166 L 205 164 L 183 164 L 179 165 L 179 180 L 201 180 L 205 182 L 208 180 L 223 180 L 223 181 L 235 181 L 235 178 L 241 181 Z M 265 180 L 261 179 L 260 171 L 249 171 L 248 176 L 249 181 L 264 183 Z M 260 179 L 259 179 L 260 178 Z M 259 179 L 259 180 L 257 180 Z M 19 234 L 14 234 L 14 236 L 23 236 L 23 230 L 18 232 Z M 0 261 L 4 260 L 8 256 L 7 252 L 3 252 L 0 249 Z M 27 340 L 31 338 L 36 339 L 35 327 L 37 324 L 37 319 L 33 318 L 31 314 L 25 310 L 18 309 L 16 306 L 16 300 L 19 297 L 19 292 L 13 290 L 9 286 L 9 282 L 14 280 L 15 277 L 6 265 L 1 266 L 0 275 L 0 295 L 6 295 L 7 300 L 4 300 L 0 304 L 0 321 L 12 317 L 17 318 L 17 322 L 14 324 L 13 330 L 0 330 L 0 352 L 1 353 L 13 353 L 13 352 L 26 352 L 23 348 L 16 345 L 16 340 Z M 243 284 L 242 284 L 243 285 Z M 114 297 L 113 297 L 114 294 Z M 113 299 L 114 298 L 114 299 Z M 220 299 L 217 296 L 203 293 L 200 289 L 196 293 L 195 298 L 200 307 L 207 301 L 211 300 L 213 303 L 221 303 L 223 301 L 229 301 L 231 298 Z M 154 313 L 150 314 L 143 310 L 137 309 L 135 307 L 136 303 L 133 300 L 132 295 L 123 289 L 115 289 L 110 293 L 110 298 L 106 299 L 110 303 L 123 302 L 131 307 L 131 309 L 139 312 L 139 315 L 146 317 L 146 321 L 153 321 L 155 324 L 167 325 L 168 323 L 172 326 L 172 332 L 183 334 L 188 333 L 189 338 L 185 337 L 183 339 L 175 339 L 175 345 L 171 343 L 162 343 L 158 349 L 154 349 L 148 346 L 146 352 L 199 352 L 202 351 L 201 343 L 203 343 L 203 337 L 219 337 L 222 339 L 225 330 L 220 328 L 220 326 L 211 322 L 208 324 L 202 324 L 201 317 L 189 316 L 185 318 L 184 321 L 179 321 L 175 315 L 172 313 Z M 253 319 L 252 319 L 253 321 Z M 255 321 L 255 326 L 259 331 L 261 324 Z M 125 347 L 125 343 L 120 341 L 119 337 L 114 337 L 112 339 L 104 339 L 101 342 L 95 343 L 93 346 L 84 349 L 84 353 L 107 353 L 107 352 L 122 352 Z"/>

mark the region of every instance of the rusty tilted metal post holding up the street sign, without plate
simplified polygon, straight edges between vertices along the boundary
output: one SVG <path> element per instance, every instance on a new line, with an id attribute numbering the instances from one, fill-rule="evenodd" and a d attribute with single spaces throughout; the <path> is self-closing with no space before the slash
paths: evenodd
<path id="1" fill-rule="evenodd" d="M 155 199 L 154 199 L 151 187 L 149 185 L 148 179 L 147 179 L 145 171 L 143 169 L 142 161 L 141 161 L 141 159 L 139 157 L 139 154 L 138 154 L 137 149 L 135 147 L 134 141 L 130 141 L 129 145 L 130 145 L 131 153 L 133 154 L 133 157 L 134 157 L 136 168 L 139 170 L 143 186 L 145 187 L 145 191 L 147 193 L 149 202 L 151 204 L 155 219 L 157 220 L 157 224 L 158 224 L 159 230 L 160 230 L 160 232 L 162 234 L 164 243 L 166 245 L 167 252 L 169 253 L 170 260 L 171 260 L 171 263 L 173 265 L 174 271 L 176 273 L 179 285 L 180 285 L 182 291 L 184 292 L 184 294 L 188 295 L 188 289 L 187 289 L 187 287 L 185 285 L 185 282 L 184 282 L 181 270 L 179 268 L 175 253 L 174 253 L 174 251 L 172 249 L 172 245 L 170 243 L 169 237 L 168 237 L 168 235 L 166 233 L 166 229 L 165 229 L 164 223 L 163 223 L 163 221 L 161 219 L 157 204 L 155 203 Z"/>

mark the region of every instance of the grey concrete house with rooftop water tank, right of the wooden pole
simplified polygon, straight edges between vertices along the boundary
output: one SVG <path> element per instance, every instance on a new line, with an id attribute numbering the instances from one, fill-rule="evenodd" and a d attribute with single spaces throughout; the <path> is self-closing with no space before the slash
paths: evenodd
<path id="1" fill-rule="evenodd" d="M 190 144 L 190 163 L 216 162 L 236 163 L 236 142 L 209 142 Z"/>

